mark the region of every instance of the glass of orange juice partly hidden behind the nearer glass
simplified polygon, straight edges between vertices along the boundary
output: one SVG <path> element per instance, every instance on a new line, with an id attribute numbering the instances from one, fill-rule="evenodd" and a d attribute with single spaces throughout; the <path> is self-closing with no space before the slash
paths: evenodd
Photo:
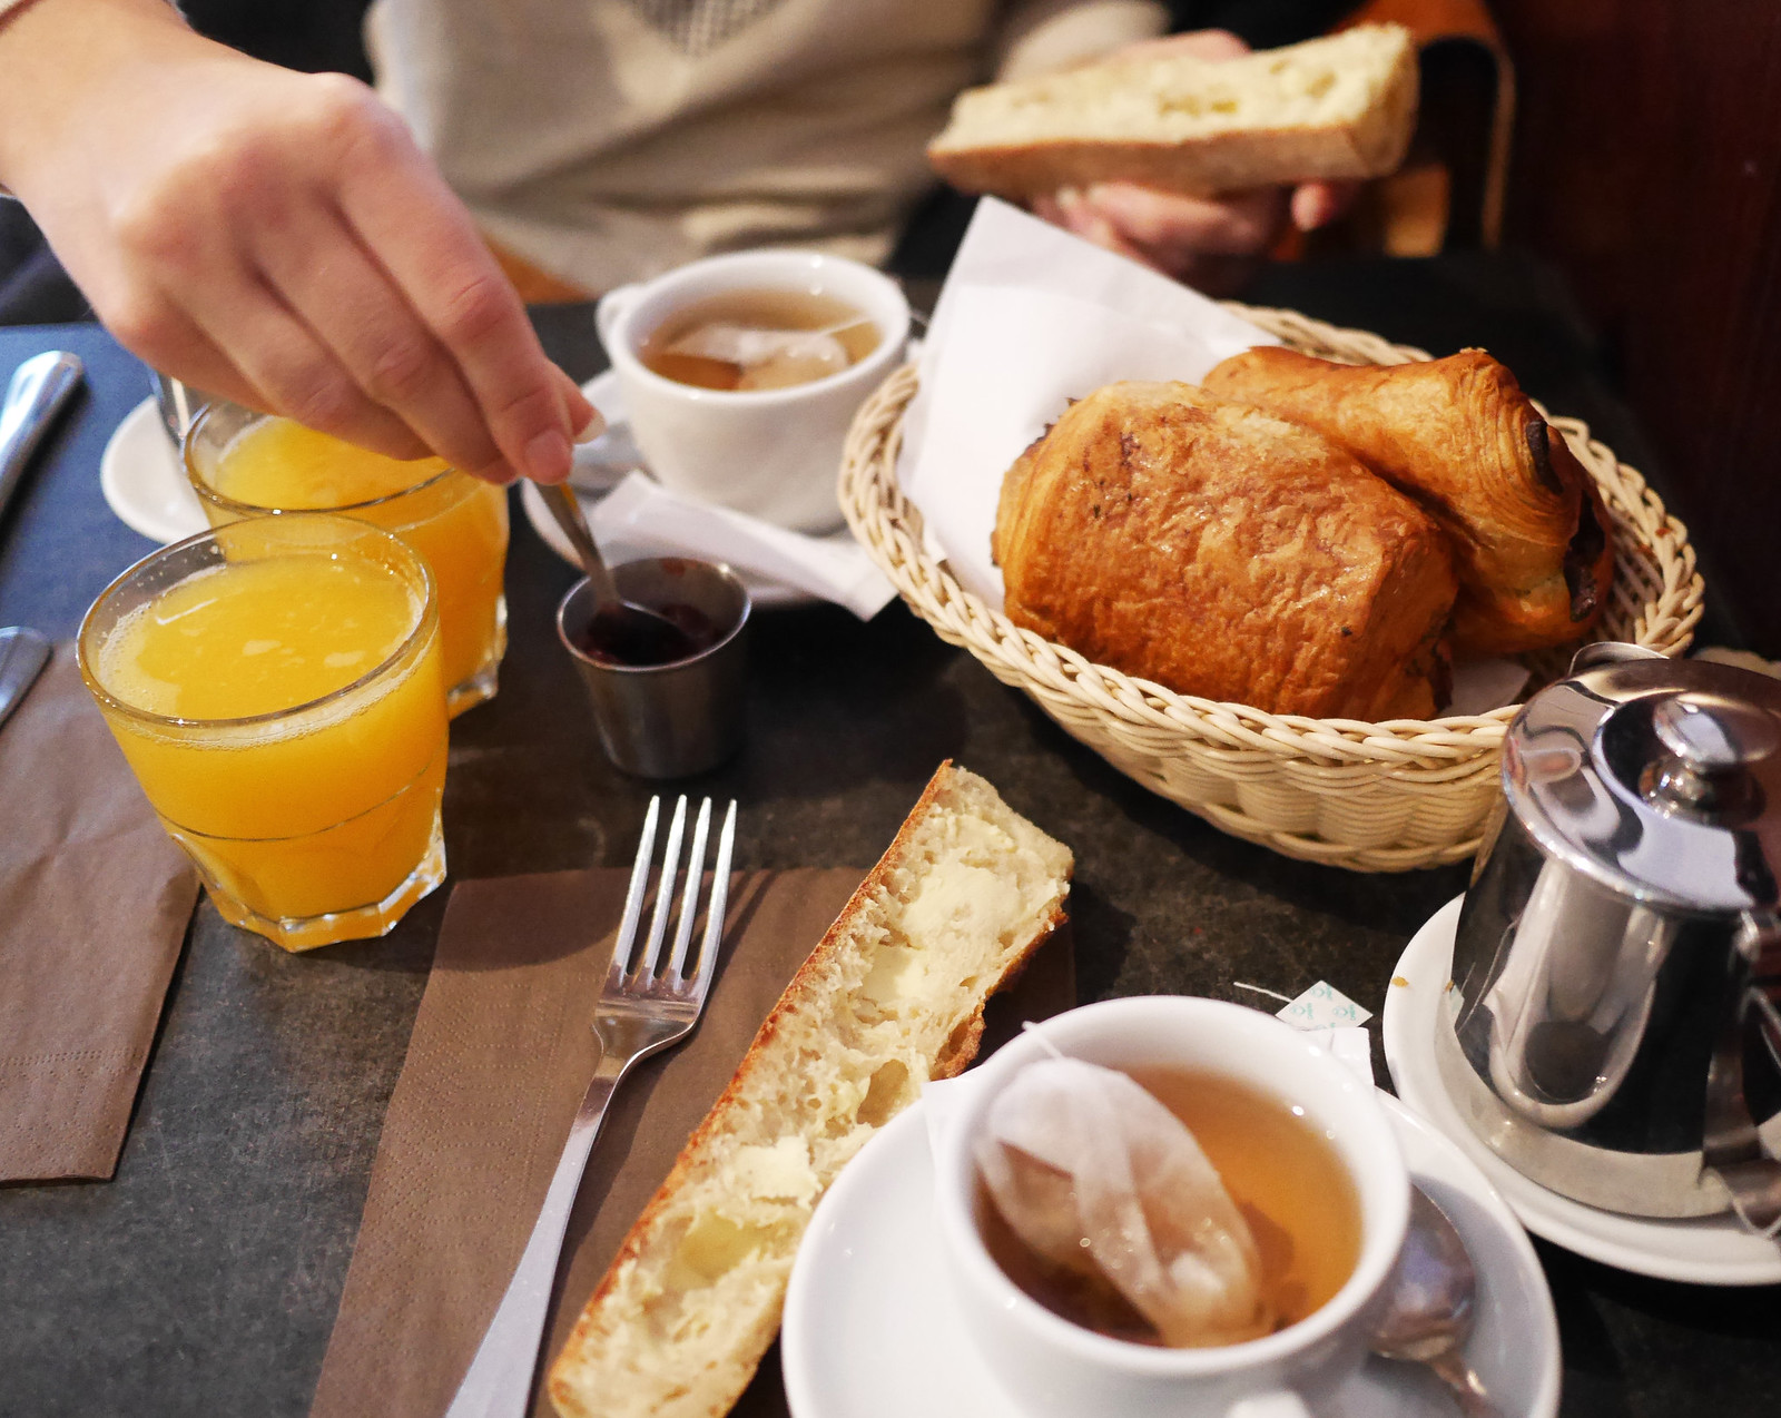
<path id="1" fill-rule="evenodd" d="M 212 403 L 185 435 L 185 474 L 212 527 L 335 511 L 394 531 L 438 581 L 449 707 L 493 698 L 508 648 L 508 495 L 442 458 L 404 463 L 290 419 Z"/>

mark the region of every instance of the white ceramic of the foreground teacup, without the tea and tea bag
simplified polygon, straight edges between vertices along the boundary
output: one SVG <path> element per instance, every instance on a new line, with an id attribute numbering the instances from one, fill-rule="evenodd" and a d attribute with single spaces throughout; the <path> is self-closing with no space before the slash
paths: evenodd
<path id="1" fill-rule="evenodd" d="M 1179 996 L 1110 999 L 1003 1047 L 944 1126 L 937 1222 L 965 1331 L 1024 1413 L 1079 1418 L 1309 1418 L 1361 1366 L 1409 1217 L 1411 1183 L 1373 1088 L 1311 1039 L 1241 1005 Z M 1224 1074 L 1304 1108 L 1354 1181 L 1361 1254 L 1346 1284 L 1298 1324 L 1248 1343 L 1154 1349 L 1083 1329 L 1026 1295 L 983 1245 L 972 1140 L 996 1094 L 1045 1042 L 1115 1069 Z"/>

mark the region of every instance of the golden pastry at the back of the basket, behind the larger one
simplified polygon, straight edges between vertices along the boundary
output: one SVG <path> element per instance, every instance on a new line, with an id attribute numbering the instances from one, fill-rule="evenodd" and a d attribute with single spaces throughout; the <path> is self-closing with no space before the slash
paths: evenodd
<path id="1" fill-rule="evenodd" d="M 1457 654 L 1564 645 L 1608 604 L 1614 545 L 1596 479 L 1482 349 L 1403 365 L 1250 349 L 1204 388 L 1334 438 L 1427 508 L 1453 538 Z"/>

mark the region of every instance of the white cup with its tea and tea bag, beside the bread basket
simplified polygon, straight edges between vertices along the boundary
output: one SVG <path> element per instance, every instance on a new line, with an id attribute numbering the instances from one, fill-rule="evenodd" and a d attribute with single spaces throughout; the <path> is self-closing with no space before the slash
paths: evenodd
<path id="1" fill-rule="evenodd" d="M 908 340 L 896 281 L 816 251 L 736 251 L 609 290 L 595 319 L 663 486 L 794 531 L 841 526 L 848 428 Z"/>

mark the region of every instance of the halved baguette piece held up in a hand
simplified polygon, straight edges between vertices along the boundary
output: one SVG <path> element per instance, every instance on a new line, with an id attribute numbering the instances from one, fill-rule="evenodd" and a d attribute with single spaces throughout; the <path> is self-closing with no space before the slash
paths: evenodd
<path id="1" fill-rule="evenodd" d="M 967 89 L 928 160 L 964 192 L 1013 201 L 1095 182 L 1211 194 L 1380 176 L 1414 126 L 1409 30 L 1357 25 L 1241 59 L 1115 59 Z"/>

